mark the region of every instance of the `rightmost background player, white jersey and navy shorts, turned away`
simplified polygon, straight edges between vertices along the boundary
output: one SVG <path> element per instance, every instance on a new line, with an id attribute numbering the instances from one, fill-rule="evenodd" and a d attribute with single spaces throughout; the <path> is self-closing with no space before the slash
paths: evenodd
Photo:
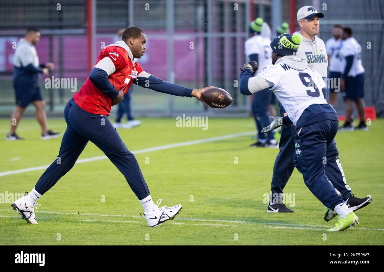
<path id="1" fill-rule="evenodd" d="M 361 46 L 352 37 L 352 29 L 343 28 L 343 46 L 340 53 L 345 59 L 345 68 L 342 73 L 341 87 L 345 88 L 345 123 L 341 130 L 368 130 L 365 124 L 365 104 L 364 104 L 364 68 L 361 63 Z M 360 123 L 358 127 L 352 126 L 353 104 L 359 113 Z"/>

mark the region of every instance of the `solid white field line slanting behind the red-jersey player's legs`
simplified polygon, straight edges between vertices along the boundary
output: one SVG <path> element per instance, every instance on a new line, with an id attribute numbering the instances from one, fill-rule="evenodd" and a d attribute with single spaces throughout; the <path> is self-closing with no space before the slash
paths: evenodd
<path id="1" fill-rule="evenodd" d="M 211 137 L 211 138 L 205 138 L 205 139 L 188 141 L 188 142 L 171 143 L 169 145 L 160 145 L 158 147 L 149 147 L 149 148 L 139 149 L 139 150 L 136 150 L 136 151 L 132 151 L 132 153 L 134 153 L 136 155 L 136 154 L 153 152 L 153 151 L 164 150 L 164 149 L 170 149 L 170 148 L 175 148 L 175 147 L 185 147 L 185 146 L 188 146 L 188 145 L 197 145 L 199 143 L 215 142 L 215 141 L 225 140 L 225 139 L 230 139 L 230 138 L 249 136 L 249 135 L 255 134 L 255 132 L 256 131 L 249 131 L 249 132 L 236 133 L 236 134 L 228 134 L 228 135 Z M 96 156 L 96 157 L 79 159 L 79 160 L 76 161 L 75 164 L 77 164 L 77 163 L 86 163 L 86 162 L 94 162 L 96 160 L 105 160 L 105 159 L 108 159 L 107 156 L 105 156 L 105 155 L 104 156 Z M 14 175 L 14 174 L 20 174 L 20 173 L 36 171 L 36 170 L 45 170 L 46 168 L 48 168 L 48 166 L 50 166 L 50 165 L 48 164 L 48 165 L 41 165 L 41 166 L 36 166 L 36 167 L 28 167 L 28 168 L 19 169 L 19 170 L 0 172 L 0 176 Z"/>

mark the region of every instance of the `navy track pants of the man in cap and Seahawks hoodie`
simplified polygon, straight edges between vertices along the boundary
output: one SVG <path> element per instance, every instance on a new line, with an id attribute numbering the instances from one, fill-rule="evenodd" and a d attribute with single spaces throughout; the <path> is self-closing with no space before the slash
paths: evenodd
<path id="1" fill-rule="evenodd" d="M 284 110 L 280 110 L 280 116 L 284 115 Z M 273 196 L 278 194 L 281 203 L 283 189 L 292 175 L 295 164 L 293 157 L 295 155 L 295 136 L 296 130 L 292 125 L 283 125 L 281 127 L 281 136 L 279 142 L 279 153 L 276 156 L 275 164 L 273 165 L 273 175 L 271 182 L 271 202 Z M 336 147 L 336 142 L 333 140 L 328 148 L 327 163 L 325 165 L 325 173 L 332 182 L 334 188 L 340 191 L 343 199 L 346 200 L 351 196 L 351 189 L 346 184 L 343 168 L 339 161 L 339 150 Z M 277 200 L 277 199 L 276 199 Z"/>

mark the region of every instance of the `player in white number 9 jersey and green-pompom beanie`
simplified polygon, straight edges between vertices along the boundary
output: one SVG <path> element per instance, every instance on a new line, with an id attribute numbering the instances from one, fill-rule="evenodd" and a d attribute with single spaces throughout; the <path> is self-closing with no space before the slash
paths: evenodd
<path id="1" fill-rule="evenodd" d="M 250 95 L 271 89 L 296 126 L 295 166 L 304 183 L 328 209 L 339 214 L 339 220 L 328 231 L 343 231 L 358 224 L 358 217 L 334 190 L 325 175 L 324 157 L 328 157 L 338 130 L 338 115 L 327 104 L 321 75 L 295 56 L 301 43 L 298 34 L 282 34 L 271 42 L 272 64 L 257 76 L 257 63 L 248 62 L 240 75 L 240 92 Z"/>

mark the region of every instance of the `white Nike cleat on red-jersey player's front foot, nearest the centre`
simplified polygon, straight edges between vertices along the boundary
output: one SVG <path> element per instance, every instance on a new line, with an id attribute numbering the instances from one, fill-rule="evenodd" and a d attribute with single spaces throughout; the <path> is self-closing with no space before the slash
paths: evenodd
<path id="1" fill-rule="evenodd" d="M 161 201 L 162 198 L 157 200 L 156 205 L 152 206 L 153 213 L 140 214 L 145 216 L 149 227 L 157 227 L 167 220 L 174 219 L 176 214 L 178 214 L 181 210 L 181 204 L 169 208 L 166 208 L 167 206 L 162 206 L 159 208 Z"/>

